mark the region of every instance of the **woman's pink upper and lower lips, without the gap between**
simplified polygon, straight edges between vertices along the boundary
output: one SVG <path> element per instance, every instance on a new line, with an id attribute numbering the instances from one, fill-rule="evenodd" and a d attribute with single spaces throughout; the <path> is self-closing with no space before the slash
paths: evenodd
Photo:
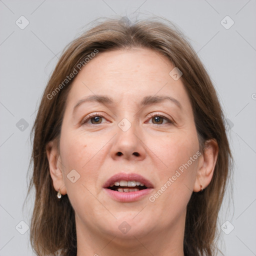
<path id="1" fill-rule="evenodd" d="M 147 188 L 138 190 L 138 191 L 132 191 L 132 192 L 118 192 L 118 191 L 107 188 L 111 184 L 113 184 L 115 181 L 119 181 L 119 180 L 125 180 L 125 181 L 136 180 L 136 181 L 139 181 L 140 183 L 143 183 Z M 140 174 L 121 172 L 111 176 L 104 183 L 103 189 L 114 200 L 117 200 L 120 202 L 131 202 L 131 201 L 139 200 L 143 196 L 150 193 L 153 190 L 153 185 L 148 179 L 141 176 Z"/>

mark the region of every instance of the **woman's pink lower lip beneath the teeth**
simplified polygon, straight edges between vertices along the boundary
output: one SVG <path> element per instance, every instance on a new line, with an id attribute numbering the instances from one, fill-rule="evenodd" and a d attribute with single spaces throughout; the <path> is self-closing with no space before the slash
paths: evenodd
<path id="1" fill-rule="evenodd" d="M 116 201 L 132 202 L 132 201 L 139 200 L 143 196 L 147 195 L 153 190 L 153 188 L 146 188 L 146 189 L 132 191 L 132 192 L 118 192 L 115 190 L 111 190 L 109 188 L 104 188 L 104 190 L 108 195 L 110 195 L 111 198 L 113 198 Z"/>

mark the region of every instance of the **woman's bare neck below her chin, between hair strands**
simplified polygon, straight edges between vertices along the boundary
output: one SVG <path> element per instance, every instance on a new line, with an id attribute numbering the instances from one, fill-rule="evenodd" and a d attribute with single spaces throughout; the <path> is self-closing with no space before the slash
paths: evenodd
<path id="1" fill-rule="evenodd" d="M 103 233 L 77 223 L 77 256 L 184 256 L 185 214 L 182 214 L 175 223 L 159 230 L 155 227 L 146 234 L 131 233 L 125 236 L 116 233 Z M 118 229 L 117 229 L 118 230 Z"/>

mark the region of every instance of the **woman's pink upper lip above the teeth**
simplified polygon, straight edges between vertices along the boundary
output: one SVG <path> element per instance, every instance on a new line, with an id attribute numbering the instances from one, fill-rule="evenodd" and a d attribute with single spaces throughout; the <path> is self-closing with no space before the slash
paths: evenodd
<path id="1" fill-rule="evenodd" d="M 124 173 L 124 172 L 120 172 L 117 174 L 114 174 L 113 176 L 111 176 L 109 179 L 107 179 L 107 181 L 104 183 L 103 187 L 109 187 L 110 185 L 112 185 L 115 181 L 120 181 L 120 180 L 125 180 L 125 181 L 139 181 L 140 183 L 143 183 L 147 188 L 152 188 L 153 185 L 152 183 L 146 179 L 145 177 L 141 176 L 140 174 L 137 173 Z"/>

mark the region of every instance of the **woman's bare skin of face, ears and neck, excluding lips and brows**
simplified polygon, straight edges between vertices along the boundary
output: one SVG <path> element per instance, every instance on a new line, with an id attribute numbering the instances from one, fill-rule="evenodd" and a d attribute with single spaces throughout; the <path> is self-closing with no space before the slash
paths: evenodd
<path id="1" fill-rule="evenodd" d="M 149 201 L 199 150 L 184 85 L 169 75 L 173 67 L 150 49 L 112 50 L 98 53 L 75 77 L 66 101 L 60 149 L 49 142 L 47 157 L 55 190 L 59 187 L 61 194 L 67 193 L 75 211 L 77 256 L 184 255 L 186 205 L 192 191 L 209 184 L 218 148 L 214 140 L 207 141 L 205 152 L 155 201 Z M 86 102 L 72 114 L 78 100 L 94 94 L 110 96 L 114 103 Z M 182 108 L 168 100 L 140 107 L 148 95 L 171 96 Z M 81 124 L 90 113 L 102 118 L 90 117 Z M 172 123 L 164 118 L 157 122 L 151 113 Z M 118 126 L 123 118 L 131 124 L 127 131 Z M 72 169 L 80 175 L 74 183 L 67 178 Z M 153 191 L 133 202 L 113 200 L 102 186 L 119 172 L 141 174 L 152 182 Z M 131 227 L 125 234 L 118 228 L 123 221 Z"/>

